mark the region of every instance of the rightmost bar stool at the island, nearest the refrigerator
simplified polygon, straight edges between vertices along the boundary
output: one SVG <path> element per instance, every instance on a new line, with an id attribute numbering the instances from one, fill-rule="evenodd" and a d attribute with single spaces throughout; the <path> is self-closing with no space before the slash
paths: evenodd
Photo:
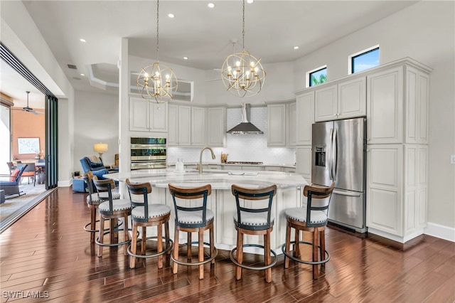
<path id="1" fill-rule="evenodd" d="M 289 259 L 296 262 L 313 265 L 313 279 L 319 278 L 318 265 L 326 266 L 330 255 L 326 250 L 326 226 L 328 221 L 328 206 L 330 204 L 333 187 L 306 185 L 304 196 L 307 197 L 306 206 L 288 208 L 286 210 L 287 228 L 286 243 L 282 245 L 284 253 L 284 268 L 289 267 Z M 291 228 L 295 229 L 295 240 L 291 241 Z M 300 230 L 313 234 L 312 241 L 300 241 Z M 301 260 L 299 243 L 312 245 L 312 260 Z M 294 252 L 291 254 L 290 246 L 294 244 Z M 318 253 L 319 252 L 319 253 Z M 318 259 L 318 255 L 320 258 Z"/>

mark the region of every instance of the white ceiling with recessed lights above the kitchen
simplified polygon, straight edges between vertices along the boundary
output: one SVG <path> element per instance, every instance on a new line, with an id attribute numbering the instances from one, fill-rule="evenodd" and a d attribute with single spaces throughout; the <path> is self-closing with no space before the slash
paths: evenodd
<path id="1" fill-rule="evenodd" d="M 212 1 L 214 9 L 208 9 L 208 2 L 160 1 L 161 62 L 212 70 L 234 52 L 232 41 L 238 41 L 235 52 L 242 50 L 242 1 Z M 296 60 L 415 2 L 255 0 L 245 3 L 245 49 L 263 64 Z M 90 85 L 90 65 L 97 78 L 118 81 L 123 37 L 129 38 L 130 55 L 156 60 L 156 1 L 33 0 L 23 4 L 76 90 L 102 92 Z M 168 18 L 168 13 L 175 18 Z M 4 83 L 4 64 L 1 69 Z M 22 94 L 25 100 L 25 90 L 31 88 L 21 85 L 14 98 L 20 100 Z"/>

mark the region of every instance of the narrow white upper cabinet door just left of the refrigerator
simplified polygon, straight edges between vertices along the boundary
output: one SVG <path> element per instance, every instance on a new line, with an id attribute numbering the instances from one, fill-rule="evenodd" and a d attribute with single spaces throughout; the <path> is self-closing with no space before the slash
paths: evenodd
<path id="1" fill-rule="evenodd" d="M 311 144 L 314 123 L 314 90 L 296 95 L 296 145 Z"/>

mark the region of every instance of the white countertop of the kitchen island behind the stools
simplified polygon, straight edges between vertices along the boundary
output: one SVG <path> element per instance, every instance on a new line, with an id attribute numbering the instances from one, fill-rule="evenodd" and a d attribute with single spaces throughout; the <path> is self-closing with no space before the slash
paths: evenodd
<path id="1" fill-rule="evenodd" d="M 307 184 L 300 174 L 280 171 L 220 171 L 205 169 L 203 174 L 196 170 L 176 173 L 174 169 L 139 169 L 124 173 L 105 174 L 116 181 L 129 179 L 132 182 L 150 182 L 151 186 L 166 188 L 168 184 L 181 187 L 196 187 L 211 184 L 213 189 L 230 189 L 232 184 L 260 188 L 277 184 L 278 188 L 301 187 Z"/>

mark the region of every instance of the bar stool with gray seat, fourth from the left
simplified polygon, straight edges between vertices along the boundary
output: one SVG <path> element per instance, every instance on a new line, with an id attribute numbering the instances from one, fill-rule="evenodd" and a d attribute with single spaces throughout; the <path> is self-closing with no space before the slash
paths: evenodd
<path id="1" fill-rule="evenodd" d="M 207 208 L 207 197 L 212 193 L 212 186 L 195 188 L 181 188 L 168 184 L 169 191 L 173 198 L 173 205 L 176 216 L 176 230 L 174 236 L 173 255 L 173 273 L 178 271 L 178 265 L 199 266 L 199 279 L 204 278 L 204 264 L 212 262 L 215 264 L 215 257 L 218 255 L 218 250 L 215 248 L 213 235 L 213 219 L 215 215 L 213 211 Z M 191 207 L 190 203 L 195 203 L 195 199 L 202 198 L 202 206 Z M 183 203 L 183 200 L 192 200 Z M 183 205 L 184 204 L 184 205 Z M 200 204 L 200 203 L 199 203 Z M 204 231 L 209 230 L 210 243 L 204 242 Z M 178 260 L 178 235 L 183 231 L 187 233 L 187 259 L 191 260 L 191 245 L 198 244 L 198 262 L 183 262 Z M 198 233 L 198 242 L 191 242 L 191 233 Z M 204 258 L 204 245 L 210 247 L 210 257 Z"/>

